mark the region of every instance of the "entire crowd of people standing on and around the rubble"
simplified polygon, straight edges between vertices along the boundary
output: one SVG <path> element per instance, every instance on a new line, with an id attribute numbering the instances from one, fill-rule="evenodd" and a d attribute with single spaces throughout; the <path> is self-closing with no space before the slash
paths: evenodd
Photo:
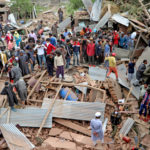
<path id="1" fill-rule="evenodd" d="M 58 10 L 59 23 L 63 21 L 63 11 Z M 134 49 L 137 32 L 123 33 L 115 30 L 99 29 L 92 30 L 89 26 L 76 33 L 74 30 L 74 20 L 71 16 L 71 29 L 65 29 L 63 33 L 58 33 L 58 23 L 52 25 L 49 33 L 44 32 L 43 22 L 40 21 L 35 30 L 32 30 L 27 36 L 20 35 L 17 31 L 11 33 L 9 23 L 0 29 L 0 41 L 6 43 L 6 47 L 0 50 L 0 69 L 6 72 L 10 81 L 5 82 L 5 87 L 1 94 L 8 96 L 8 102 L 13 111 L 16 111 L 14 105 L 18 105 L 18 100 L 14 92 L 14 87 L 18 92 L 22 105 L 27 100 L 27 87 L 23 76 L 34 72 L 35 66 L 39 70 L 47 69 L 52 78 L 54 71 L 56 77 L 64 80 L 64 70 L 68 69 L 73 59 L 73 66 L 88 64 L 89 67 L 95 65 L 104 65 L 107 69 L 106 77 L 109 78 L 111 72 L 116 75 L 118 81 L 118 71 L 116 65 L 115 48 L 124 50 Z M 5 35 L 2 38 L 2 35 Z M 48 35 L 48 36 L 47 36 Z M 150 65 L 147 60 L 135 69 L 135 60 L 131 59 L 127 67 L 127 80 L 131 83 L 136 73 L 137 81 L 134 86 L 141 86 L 141 95 L 139 99 L 139 115 L 147 111 L 150 107 Z M 92 140 L 94 145 L 98 139 L 103 139 L 102 123 L 99 120 L 101 113 L 95 114 L 95 119 L 91 121 Z M 116 110 L 111 116 L 112 128 L 115 136 L 117 125 L 120 124 L 120 114 Z"/>

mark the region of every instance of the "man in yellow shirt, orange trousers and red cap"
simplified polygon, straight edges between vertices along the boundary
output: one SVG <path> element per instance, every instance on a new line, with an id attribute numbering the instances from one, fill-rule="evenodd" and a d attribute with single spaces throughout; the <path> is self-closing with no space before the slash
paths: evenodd
<path id="1" fill-rule="evenodd" d="M 116 53 L 112 53 L 111 56 L 106 57 L 105 60 L 109 61 L 109 72 L 107 74 L 107 77 L 111 74 L 111 72 L 115 73 L 116 80 L 118 81 L 118 71 L 116 67 L 116 59 L 115 59 Z"/>

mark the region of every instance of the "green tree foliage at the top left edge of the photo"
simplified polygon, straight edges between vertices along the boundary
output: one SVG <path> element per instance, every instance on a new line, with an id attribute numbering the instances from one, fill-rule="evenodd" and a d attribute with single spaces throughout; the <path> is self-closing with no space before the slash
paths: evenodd
<path id="1" fill-rule="evenodd" d="M 28 18 L 32 12 L 31 0 L 11 0 L 11 12 L 17 13 L 19 18 Z"/>

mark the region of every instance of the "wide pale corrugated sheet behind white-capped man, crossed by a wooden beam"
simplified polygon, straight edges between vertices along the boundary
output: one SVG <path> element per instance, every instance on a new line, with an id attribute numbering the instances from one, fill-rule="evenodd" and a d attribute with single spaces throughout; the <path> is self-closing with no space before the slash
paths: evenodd
<path id="1" fill-rule="evenodd" d="M 48 109 L 52 99 L 45 98 L 42 104 L 42 109 Z M 102 113 L 102 121 L 104 119 L 105 112 L 104 103 L 94 102 L 72 102 L 56 100 L 52 116 L 56 118 L 74 119 L 74 120 L 87 120 L 90 121 L 97 111 Z"/>

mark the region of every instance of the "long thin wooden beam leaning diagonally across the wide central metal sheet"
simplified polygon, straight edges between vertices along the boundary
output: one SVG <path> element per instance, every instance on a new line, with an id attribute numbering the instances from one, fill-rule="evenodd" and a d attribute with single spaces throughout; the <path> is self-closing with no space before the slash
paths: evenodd
<path id="1" fill-rule="evenodd" d="M 42 123 L 41 123 L 41 125 L 40 125 L 40 128 L 39 128 L 39 130 L 38 130 L 38 132 L 37 132 L 37 137 L 39 136 L 39 134 L 40 134 L 40 132 L 41 132 L 41 130 L 42 130 L 42 128 L 43 128 L 43 126 L 44 126 L 44 124 L 45 124 L 45 122 L 46 122 L 46 120 L 47 120 L 49 114 L 50 114 L 50 112 L 52 111 L 52 108 L 53 108 L 53 106 L 54 106 L 54 104 L 55 104 L 55 102 L 56 102 L 57 96 L 58 96 L 58 94 L 59 94 L 59 92 L 60 92 L 62 86 L 63 86 L 63 85 L 61 84 L 60 87 L 59 87 L 59 89 L 58 89 L 58 91 L 57 91 L 57 93 L 56 93 L 56 95 L 55 95 L 55 98 L 53 99 L 51 105 L 49 105 L 49 108 L 48 108 L 48 110 L 47 110 L 47 113 L 46 113 L 46 115 L 45 115 L 45 117 L 44 117 L 44 119 L 43 119 L 43 121 L 42 121 Z"/>

